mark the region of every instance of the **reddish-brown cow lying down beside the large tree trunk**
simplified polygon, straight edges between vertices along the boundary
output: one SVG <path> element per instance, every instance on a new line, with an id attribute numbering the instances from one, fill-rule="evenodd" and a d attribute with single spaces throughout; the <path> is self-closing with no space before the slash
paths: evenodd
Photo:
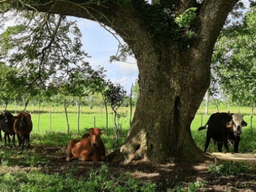
<path id="1" fill-rule="evenodd" d="M 66 161 L 79 159 L 80 161 L 106 161 L 106 148 L 100 135 L 103 131 L 97 127 L 88 130 L 81 140 L 71 140 L 68 143 Z"/>

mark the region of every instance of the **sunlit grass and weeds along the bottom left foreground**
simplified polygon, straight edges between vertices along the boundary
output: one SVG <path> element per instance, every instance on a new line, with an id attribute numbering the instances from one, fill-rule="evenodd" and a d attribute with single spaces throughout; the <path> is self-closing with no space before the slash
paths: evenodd
<path id="1" fill-rule="evenodd" d="M 99 170 L 88 170 L 88 177 L 74 179 L 72 173 L 42 173 L 39 170 L 24 172 L 0 173 L 1 191 L 156 191 L 156 184 L 142 184 L 139 180 L 132 179 L 127 175 L 122 183 L 115 180 L 109 173 L 109 168 L 103 165 Z"/>

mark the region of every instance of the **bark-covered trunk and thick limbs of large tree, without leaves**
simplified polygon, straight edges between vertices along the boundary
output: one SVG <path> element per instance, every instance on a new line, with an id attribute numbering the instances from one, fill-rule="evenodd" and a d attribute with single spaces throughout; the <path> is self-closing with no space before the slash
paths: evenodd
<path id="1" fill-rule="evenodd" d="M 40 12 L 82 17 L 109 26 L 134 52 L 140 72 L 140 97 L 126 141 L 113 161 L 125 159 L 129 163 L 140 158 L 163 163 L 204 157 L 193 141 L 190 125 L 209 87 L 214 44 L 237 0 L 205 0 L 200 5 L 195 0 L 161 0 L 167 8 L 175 4 L 175 15 L 191 6 L 198 7 L 195 38 L 191 44 L 183 45 L 172 35 L 156 35 L 145 26 L 147 21 L 143 20 L 140 7 L 152 6 L 142 0 L 112 0 L 99 5 L 78 4 L 78 0 L 39 2 L 36 9 Z"/>

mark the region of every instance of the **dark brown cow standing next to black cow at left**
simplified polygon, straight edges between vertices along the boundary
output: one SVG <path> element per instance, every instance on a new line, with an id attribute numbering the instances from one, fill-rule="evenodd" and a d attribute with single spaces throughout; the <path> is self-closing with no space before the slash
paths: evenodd
<path id="1" fill-rule="evenodd" d="M 17 116 L 13 116 L 15 120 L 13 129 L 17 134 L 19 140 L 19 147 L 22 145 L 22 150 L 24 150 L 25 140 L 28 142 L 28 148 L 30 148 L 30 132 L 33 129 L 33 124 L 31 121 L 31 115 L 29 113 L 23 112 L 19 113 Z"/>

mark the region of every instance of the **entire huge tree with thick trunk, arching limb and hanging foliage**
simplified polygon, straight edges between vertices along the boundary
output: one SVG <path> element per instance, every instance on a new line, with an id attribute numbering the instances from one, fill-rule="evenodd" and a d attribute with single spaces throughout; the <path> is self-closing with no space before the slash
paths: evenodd
<path id="1" fill-rule="evenodd" d="M 250 0 L 250 3 L 255 5 L 255 1 Z M 172 159 L 199 161 L 208 158 L 196 147 L 190 125 L 210 84 L 211 57 L 216 40 L 223 25 L 228 22 L 228 14 L 234 17 L 241 15 L 239 9 L 244 8 L 243 1 L 155 0 L 148 3 L 145 0 L 4 0 L 0 6 L 3 13 L 12 10 L 25 20 L 33 18 L 31 24 L 42 24 L 33 28 L 23 24 L 12 30 L 19 33 L 24 29 L 38 30 L 37 38 L 31 38 L 20 47 L 20 53 L 11 58 L 14 61 L 19 58 L 22 65 L 20 58 L 25 56 L 26 70 L 35 68 L 39 81 L 44 79 L 41 72 L 44 71 L 47 76 L 48 72 L 55 70 L 54 67 L 60 66 L 63 70 L 67 63 L 76 65 L 84 56 L 79 51 L 79 39 L 74 38 L 76 45 L 73 46 L 68 38 L 70 22 L 65 22 L 63 15 L 99 22 L 128 45 L 120 50 L 127 54 L 132 51 L 137 60 L 140 97 L 131 130 L 113 161 L 125 160 L 129 163 L 134 159 L 143 159 L 161 163 Z M 3 23 L 4 19 L 1 21 Z M 74 35 L 79 36 L 76 26 L 71 27 L 74 27 Z M 40 31 L 42 28 L 44 31 Z M 41 34 L 46 35 L 45 38 Z M 14 44 L 10 42 L 14 37 L 9 35 L 7 42 L 6 36 L 1 37 L 1 42 L 5 40 L 1 45 L 6 47 L 4 50 L 12 48 Z M 19 43 L 17 45 L 19 49 Z M 61 54 L 62 50 L 58 49 L 62 45 L 67 55 Z M 65 45 L 72 49 L 67 50 Z M 29 49 L 32 52 L 24 54 Z M 70 50 L 74 52 L 71 54 L 68 52 Z M 6 53 L 1 51 L 0 56 L 6 56 Z M 36 56 L 39 56 L 37 67 L 33 65 L 37 61 Z M 68 61 L 67 56 L 71 58 Z M 45 58 L 54 58 L 56 63 L 48 65 Z M 123 58 L 125 55 L 113 59 Z M 49 70 L 51 66 L 54 67 Z"/>

